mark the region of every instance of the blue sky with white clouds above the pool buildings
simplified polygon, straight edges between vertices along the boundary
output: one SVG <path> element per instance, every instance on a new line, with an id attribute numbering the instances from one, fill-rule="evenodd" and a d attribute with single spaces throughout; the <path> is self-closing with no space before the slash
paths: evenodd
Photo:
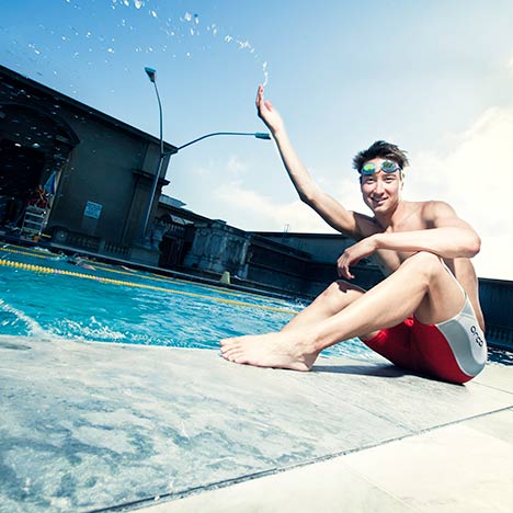
<path id="1" fill-rule="evenodd" d="M 513 280 L 511 0 L 3 0 L 0 62 L 164 139 L 263 132 L 260 83 L 321 189 L 366 212 L 353 156 L 408 150 L 404 198 L 443 200 Z M 273 141 L 219 136 L 171 160 L 164 193 L 244 230 L 333 232 Z M 369 214 L 369 212 L 366 212 Z"/>

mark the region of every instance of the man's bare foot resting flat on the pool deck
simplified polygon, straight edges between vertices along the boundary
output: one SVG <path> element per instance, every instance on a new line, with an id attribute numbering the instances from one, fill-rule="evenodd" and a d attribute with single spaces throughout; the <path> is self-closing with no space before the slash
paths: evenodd
<path id="1" fill-rule="evenodd" d="M 294 330 L 225 339 L 220 342 L 221 353 L 226 360 L 239 364 L 310 371 L 319 352 L 298 338 Z"/>

